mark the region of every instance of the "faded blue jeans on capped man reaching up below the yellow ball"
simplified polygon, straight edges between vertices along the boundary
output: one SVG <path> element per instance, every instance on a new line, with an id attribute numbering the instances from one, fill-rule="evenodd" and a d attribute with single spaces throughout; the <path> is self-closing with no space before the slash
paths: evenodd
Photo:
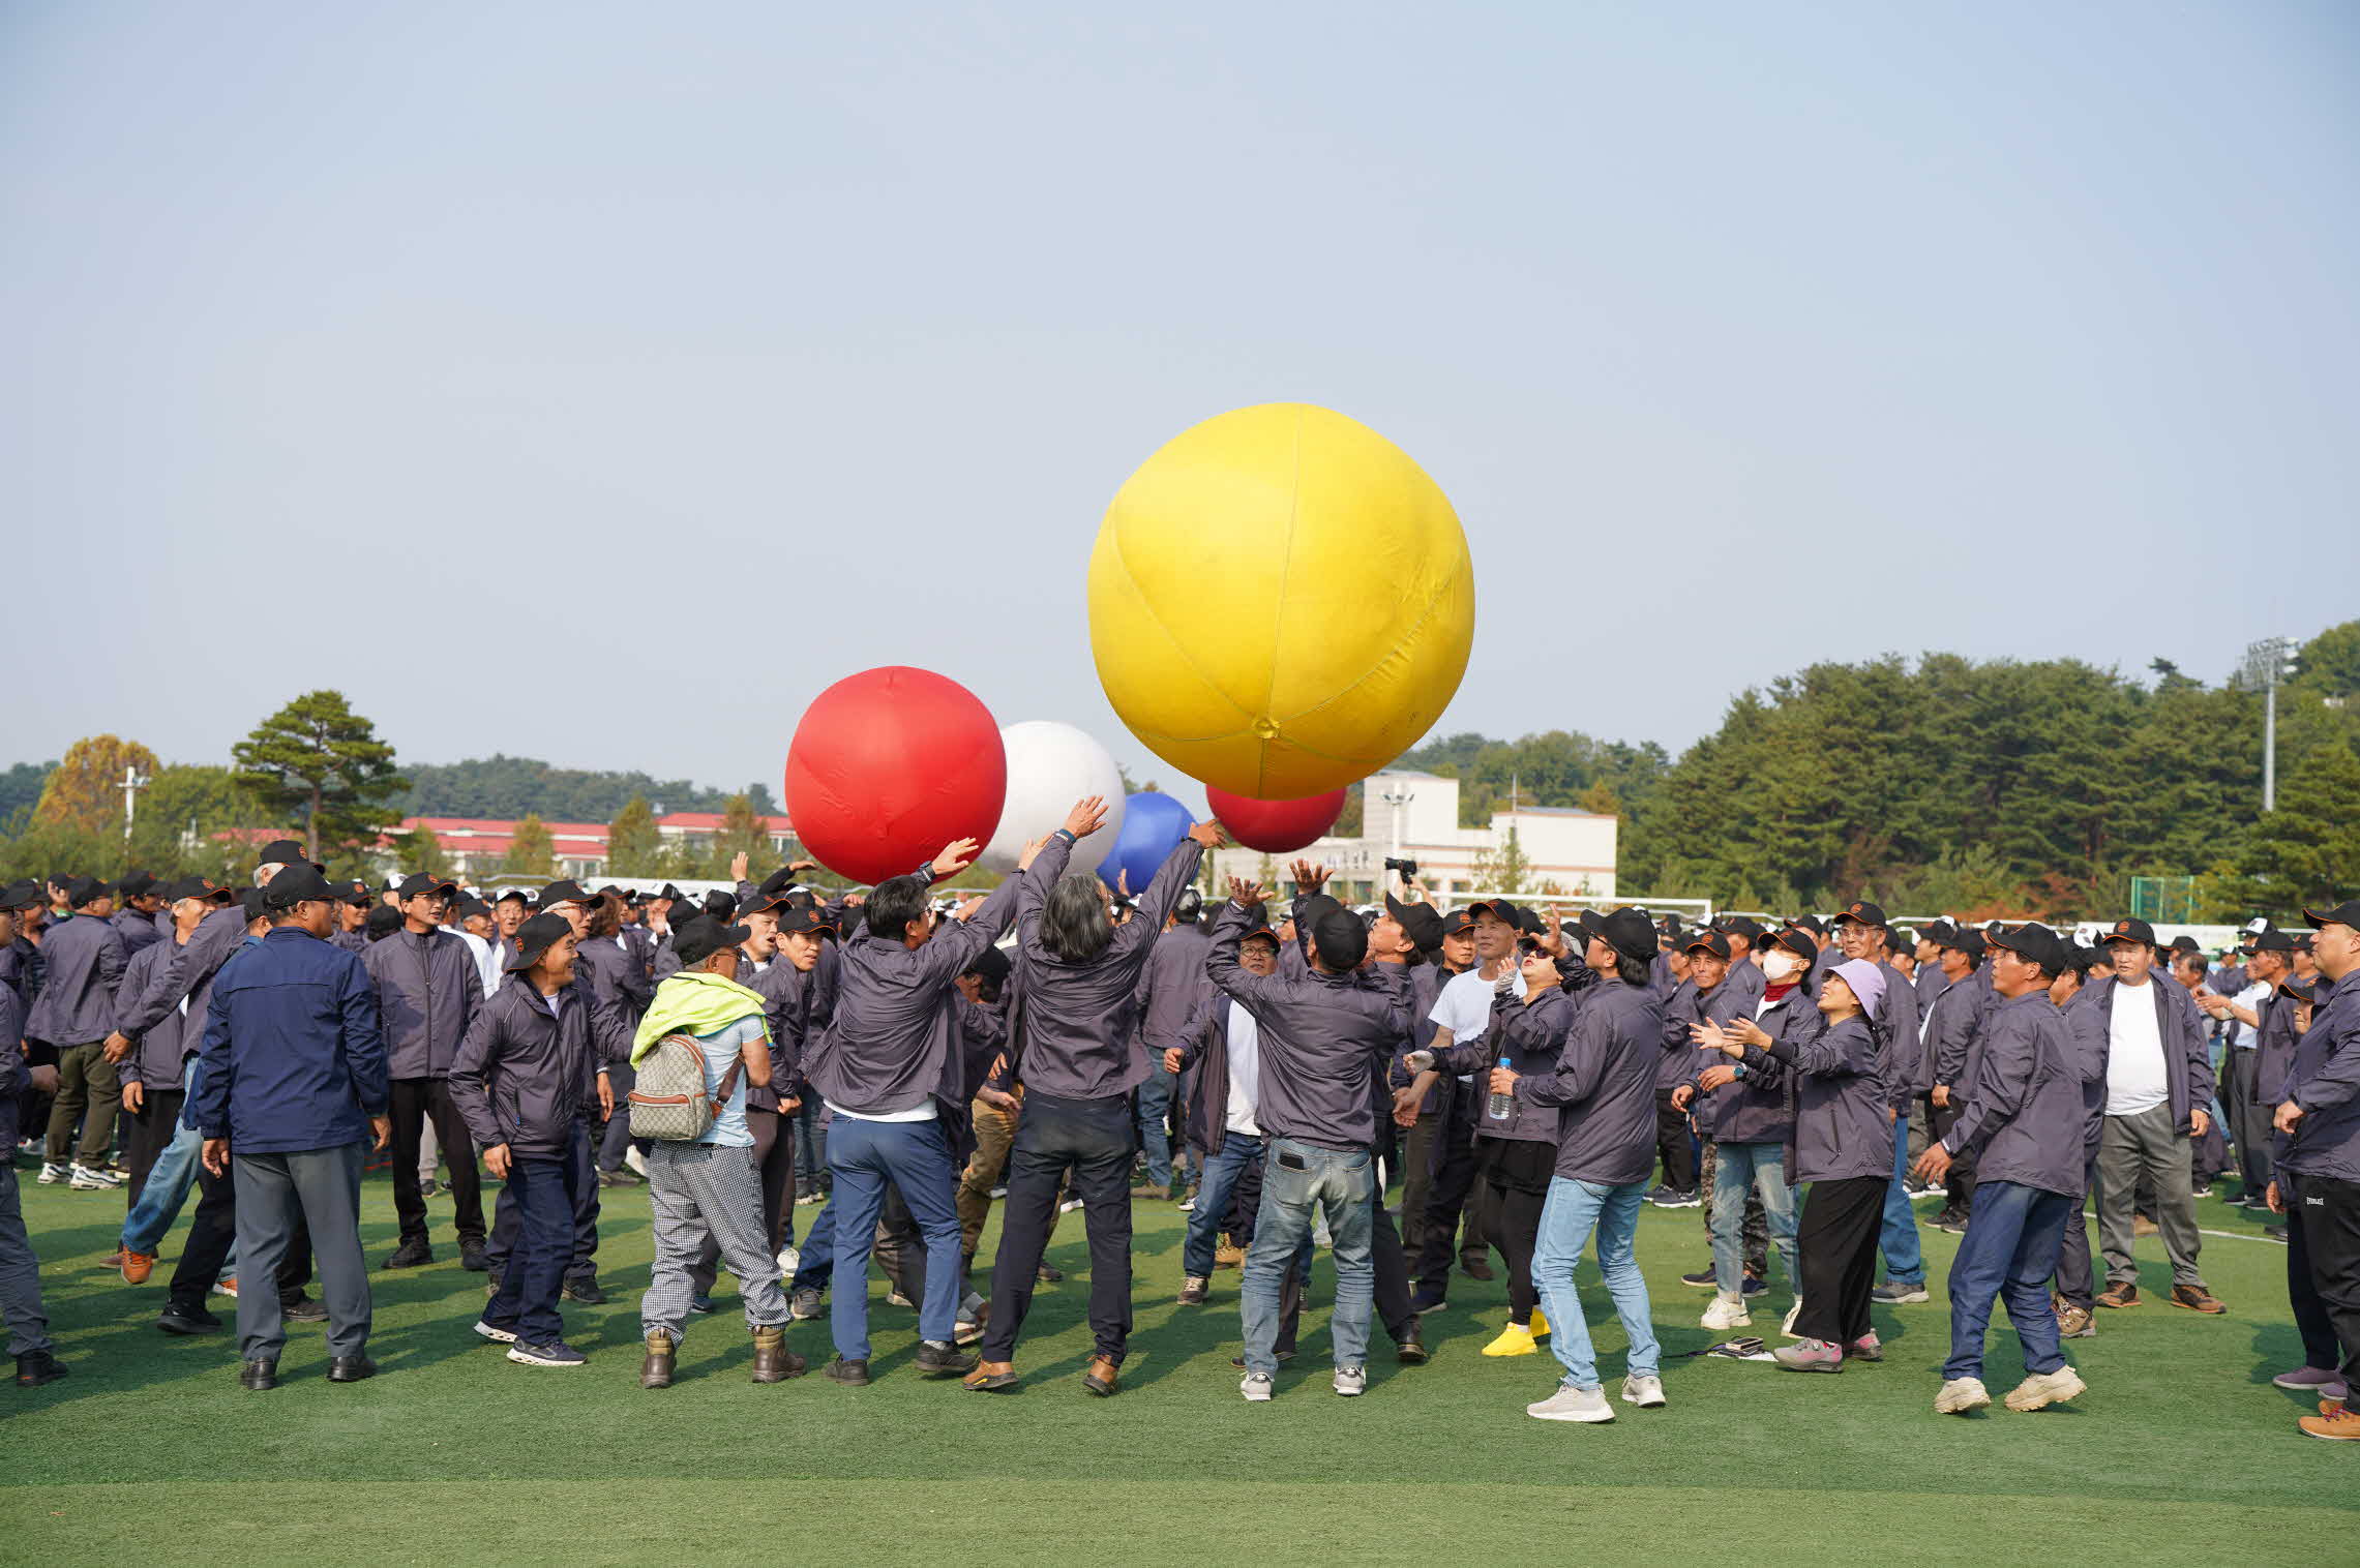
<path id="1" fill-rule="evenodd" d="M 1376 1226 L 1376 1160 L 1366 1148 L 1319 1148 L 1293 1139 L 1267 1139 L 1263 1158 L 1263 1207 L 1253 1217 L 1253 1247 L 1246 1252 L 1246 1283 L 1237 1304 L 1246 1330 L 1246 1372 L 1270 1377 L 1279 1370 L 1279 1283 L 1293 1269 L 1296 1250 L 1310 1240 L 1315 1212 L 1326 1214 L 1336 1254 L 1336 1311 L 1329 1316 L 1336 1365 L 1366 1365 L 1369 1304 L 1376 1299 L 1376 1261 L 1369 1250 Z"/>

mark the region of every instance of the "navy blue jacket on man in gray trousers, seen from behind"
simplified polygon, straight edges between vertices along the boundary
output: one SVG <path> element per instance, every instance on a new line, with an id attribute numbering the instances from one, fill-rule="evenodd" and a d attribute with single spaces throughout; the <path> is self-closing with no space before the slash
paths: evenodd
<path id="1" fill-rule="evenodd" d="M 378 988 L 361 960 L 297 927 L 215 976 L 203 1061 L 196 1125 L 234 1153 L 340 1148 L 385 1115 Z"/>

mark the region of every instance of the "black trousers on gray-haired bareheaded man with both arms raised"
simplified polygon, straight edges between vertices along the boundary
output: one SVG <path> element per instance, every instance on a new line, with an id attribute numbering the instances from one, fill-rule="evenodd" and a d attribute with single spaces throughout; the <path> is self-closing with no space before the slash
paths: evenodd
<path id="1" fill-rule="evenodd" d="M 1001 1252 L 991 1259 L 991 1323 L 984 1361 L 1015 1361 L 1017 1332 L 1031 1309 L 1041 1254 L 1048 1250 L 1057 1186 L 1067 1172 L 1081 1195 L 1090 1236 L 1090 1335 L 1095 1353 L 1121 1365 L 1130 1344 L 1130 1155 L 1138 1120 L 1130 1096 L 1057 1099 L 1024 1094 L 1024 1120 L 1008 1151 L 1008 1198 L 1001 1200 Z"/>

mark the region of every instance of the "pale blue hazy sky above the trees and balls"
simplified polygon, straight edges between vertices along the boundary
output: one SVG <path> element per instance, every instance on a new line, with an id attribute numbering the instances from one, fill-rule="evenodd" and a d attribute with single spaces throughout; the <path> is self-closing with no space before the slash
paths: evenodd
<path id="1" fill-rule="evenodd" d="M 998 9 L 0 12 L 0 762 L 776 788 L 916 663 L 1171 780 L 1090 538 L 1272 398 L 1466 519 L 1449 731 L 2360 608 L 2360 7 Z"/>

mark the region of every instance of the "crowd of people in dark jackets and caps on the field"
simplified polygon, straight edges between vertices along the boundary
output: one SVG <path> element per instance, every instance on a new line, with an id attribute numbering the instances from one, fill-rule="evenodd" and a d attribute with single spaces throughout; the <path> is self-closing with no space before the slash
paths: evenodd
<path id="1" fill-rule="evenodd" d="M 2006 1304 L 2027 1375 L 2004 1403 L 2039 1410 L 2086 1391 L 2067 1342 L 2143 1304 L 2136 1236 L 2162 1238 L 2169 1306 L 2225 1311 L 2195 1198 L 2230 1174 L 2284 1219 L 2303 1365 L 2275 1382 L 2318 1396 L 2303 1434 L 2360 1438 L 2360 901 L 2299 934 L 2254 922 L 2218 964 L 2143 920 L 2089 943 L 2037 922 L 1897 931 L 1867 901 L 1683 927 L 1440 910 L 1402 882 L 1352 910 L 1307 863 L 1286 910 L 1237 879 L 1206 908 L 1215 825 L 1130 896 L 1069 870 L 1102 821 L 1079 802 L 956 903 L 937 887 L 972 842 L 866 894 L 809 889 L 795 863 L 703 898 L 555 879 L 484 901 L 425 872 L 330 882 L 295 842 L 262 851 L 253 887 L 21 882 L 0 891 L 0 1132 L 31 1134 L 42 1184 L 125 1193 L 111 1264 L 130 1285 L 198 1193 L 156 1327 L 219 1332 L 208 1299 L 234 1297 L 257 1391 L 290 1320 L 326 1323 L 330 1382 L 375 1372 L 359 1207 L 378 1158 L 399 1217 L 380 1266 L 434 1261 L 446 1193 L 458 1261 L 486 1276 L 474 1332 L 526 1368 L 583 1365 L 564 1304 L 607 1299 L 602 1193 L 644 1186 L 647 1389 L 673 1382 L 722 1269 L 755 1382 L 805 1372 L 788 1327 L 826 1311 L 824 1375 L 866 1384 L 871 1261 L 918 1316 L 918 1375 L 1015 1389 L 1050 1236 L 1079 1207 L 1081 1382 L 1114 1396 L 1133 1205 L 1178 1200 L 1178 1302 L 1206 1306 L 1241 1266 L 1246 1401 L 1296 1353 L 1317 1247 L 1340 1396 L 1366 1389 L 1371 1320 L 1425 1365 L 1421 1318 L 1496 1257 L 1508 1320 L 1482 1353 L 1546 1342 L 1560 1379 L 1527 1412 L 1555 1422 L 1617 1415 L 1574 1283 L 1586 1250 L 1628 1344 L 1621 1403 L 1669 1403 L 1635 1261 L 1647 1205 L 1702 1212 L 1706 1261 L 1683 1283 L 1702 1327 L 1732 1332 L 1720 1353 L 1843 1372 L 1883 1358 L 1876 1309 L 1930 1299 L 1914 1205 L 1940 1195 L 1959 1247 L 1933 1405 L 1992 1403 Z M 19 1386 L 64 1377 L 14 1165 L 0 1309 Z M 1758 1311 L 1777 1344 L 1735 1335 Z"/>

